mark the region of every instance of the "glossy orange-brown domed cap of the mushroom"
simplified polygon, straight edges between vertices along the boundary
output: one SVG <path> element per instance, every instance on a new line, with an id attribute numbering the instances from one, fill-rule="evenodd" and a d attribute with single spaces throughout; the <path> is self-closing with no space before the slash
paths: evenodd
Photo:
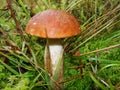
<path id="1" fill-rule="evenodd" d="M 42 38 L 65 38 L 80 32 L 78 21 L 63 10 L 49 9 L 40 12 L 26 26 L 26 33 Z"/>

